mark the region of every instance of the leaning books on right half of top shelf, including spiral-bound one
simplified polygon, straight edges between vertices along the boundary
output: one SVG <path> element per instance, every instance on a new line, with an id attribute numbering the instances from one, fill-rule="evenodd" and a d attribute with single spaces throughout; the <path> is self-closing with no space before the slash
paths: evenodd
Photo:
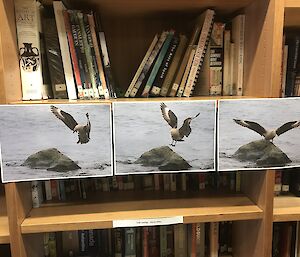
<path id="1" fill-rule="evenodd" d="M 243 94 L 245 15 L 214 22 L 196 19 L 188 41 L 174 30 L 154 36 L 125 97 Z"/>

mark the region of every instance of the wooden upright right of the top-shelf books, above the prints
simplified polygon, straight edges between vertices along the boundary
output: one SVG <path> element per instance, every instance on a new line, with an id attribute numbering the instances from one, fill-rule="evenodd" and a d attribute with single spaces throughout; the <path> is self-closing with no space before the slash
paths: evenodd
<path id="1" fill-rule="evenodd" d="M 245 95 L 278 97 L 284 1 L 256 0 L 246 9 Z"/>

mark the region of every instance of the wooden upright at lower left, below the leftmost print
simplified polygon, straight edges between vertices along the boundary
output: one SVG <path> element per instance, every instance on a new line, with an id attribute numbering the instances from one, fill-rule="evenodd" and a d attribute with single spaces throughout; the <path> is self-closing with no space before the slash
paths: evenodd
<path id="1" fill-rule="evenodd" d="M 30 183 L 6 184 L 5 196 L 12 257 L 30 257 L 21 234 L 21 223 L 32 208 Z"/>

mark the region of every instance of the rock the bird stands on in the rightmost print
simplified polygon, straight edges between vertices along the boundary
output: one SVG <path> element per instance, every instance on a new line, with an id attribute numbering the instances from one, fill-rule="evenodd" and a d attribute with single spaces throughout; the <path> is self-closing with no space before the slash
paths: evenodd
<path id="1" fill-rule="evenodd" d="M 241 146 L 233 157 L 241 161 L 253 161 L 262 167 L 283 166 L 292 162 L 277 146 L 264 139 Z"/>

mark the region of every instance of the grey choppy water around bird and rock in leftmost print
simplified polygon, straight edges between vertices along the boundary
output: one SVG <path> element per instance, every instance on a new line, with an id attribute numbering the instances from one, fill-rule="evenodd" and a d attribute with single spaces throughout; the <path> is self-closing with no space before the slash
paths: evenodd
<path id="1" fill-rule="evenodd" d="M 89 113 L 90 142 L 76 144 L 77 134 L 51 113 L 49 105 L 0 106 L 3 181 L 112 174 L 110 106 L 56 106 L 70 113 L 79 124 L 86 123 L 85 113 Z M 20 167 L 29 155 L 52 147 L 70 157 L 81 169 L 65 173 Z"/>

